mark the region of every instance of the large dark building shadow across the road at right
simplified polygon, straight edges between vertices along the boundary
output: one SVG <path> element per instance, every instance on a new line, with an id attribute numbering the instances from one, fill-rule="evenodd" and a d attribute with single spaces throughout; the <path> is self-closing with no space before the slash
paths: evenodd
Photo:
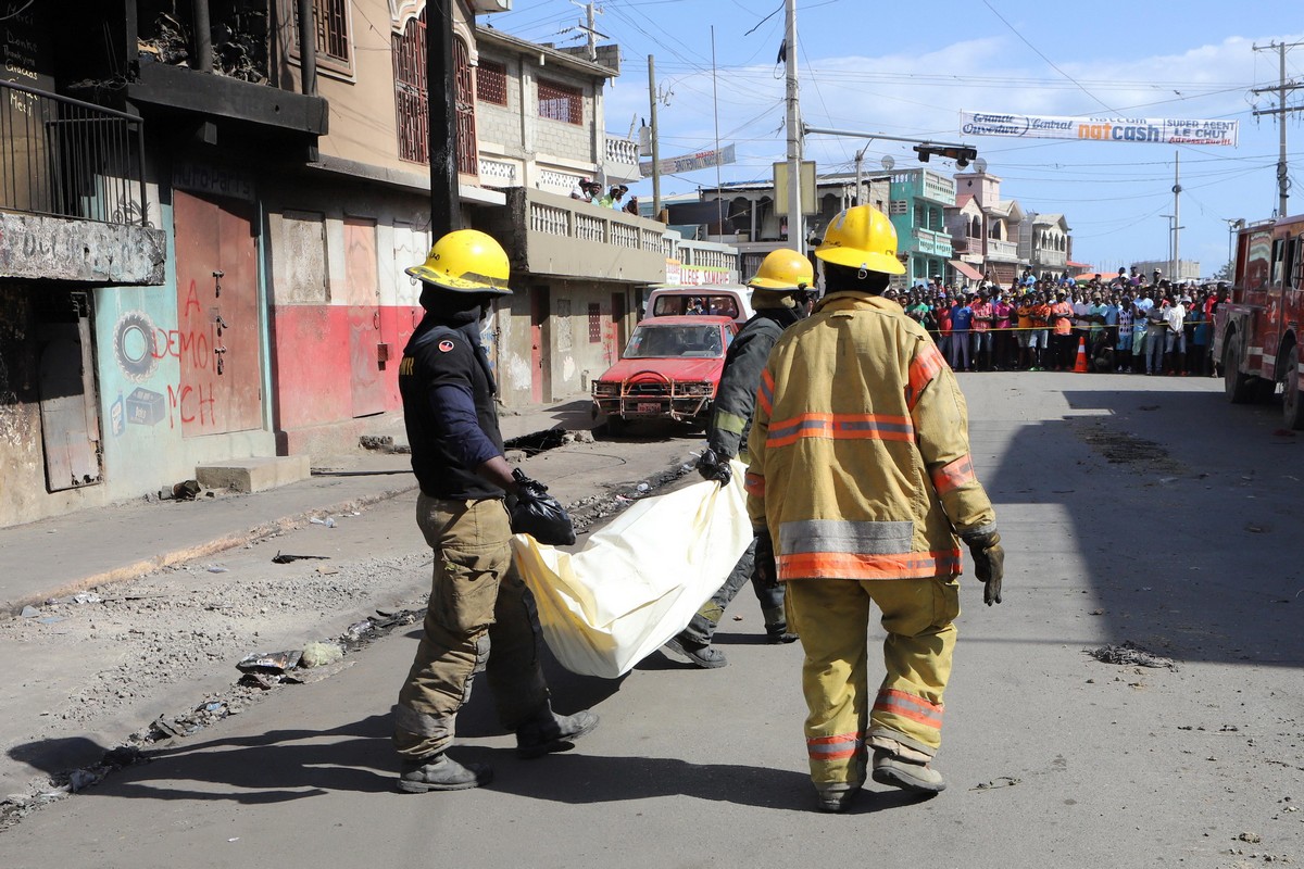
<path id="1" fill-rule="evenodd" d="M 1017 423 L 983 476 L 1007 551 L 1026 560 L 1007 569 L 1050 599 L 1085 584 L 1068 606 L 1099 618 L 1111 642 L 1179 661 L 1304 666 L 1304 433 L 1281 430 L 1279 406 L 1232 406 L 1210 390 L 1090 386 L 1064 392 L 1071 416 Z M 974 423 L 975 449 L 985 426 L 1001 425 Z M 1085 577 L 1058 558 L 1073 548 Z M 1007 598 L 1018 584 L 1007 582 Z"/>

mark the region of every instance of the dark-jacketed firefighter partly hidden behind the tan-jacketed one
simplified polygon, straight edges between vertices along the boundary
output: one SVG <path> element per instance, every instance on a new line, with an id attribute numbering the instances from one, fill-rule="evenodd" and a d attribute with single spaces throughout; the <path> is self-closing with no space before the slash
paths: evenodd
<path id="1" fill-rule="evenodd" d="M 751 306 L 756 314 L 738 332 L 725 357 L 707 429 L 707 449 L 698 459 L 698 473 L 703 478 L 728 485 L 732 478 L 729 460 L 738 457 L 743 464 L 747 463 L 747 431 L 756 404 L 760 373 L 778 336 L 806 315 L 807 291 L 814 280 L 810 261 L 795 250 L 781 248 L 771 251 L 756 270 L 756 276 L 747 281 L 752 288 Z M 755 555 L 754 539 L 715 597 L 698 610 L 689 627 L 675 634 L 666 648 L 699 667 L 724 667 L 728 663 L 725 653 L 711 645 L 711 638 L 725 607 L 747 580 L 751 580 L 756 599 L 760 601 L 765 638 L 776 644 L 797 640 L 797 634 L 789 633 L 784 615 L 784 586 L 772 573 L 758 573 L 754 569 Z"/>

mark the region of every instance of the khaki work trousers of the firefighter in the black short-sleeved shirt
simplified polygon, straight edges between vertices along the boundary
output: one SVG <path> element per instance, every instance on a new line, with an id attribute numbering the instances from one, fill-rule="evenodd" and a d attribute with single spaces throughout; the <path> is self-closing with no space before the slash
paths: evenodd
<path id="1" fill-rule="evenodd" d="M 485 671 L 507 730 L 546 709 L 548 689 L 535 599 L 511 563 L 506 504 L 422 494 L 416 507 L 434 550 L 434 578 L 421 644 L 394 707 L 394 745 L 421 758 L 452 741 L 476 672 Z"/>

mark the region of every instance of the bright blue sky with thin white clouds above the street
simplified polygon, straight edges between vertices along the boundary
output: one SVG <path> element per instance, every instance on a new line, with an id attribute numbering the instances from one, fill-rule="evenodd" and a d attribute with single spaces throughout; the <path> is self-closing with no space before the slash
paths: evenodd
<path id="1" fill-rule="evenodd" d="M 656 57 L 661 155 L 735 143 L 738 163 L 722 181 L 768 177 L 784 159 L 782 0 L 606 0 L 596 30 L 622 50 L 622 74 L 608 89 L 606 130 L 627 135 L 648 116 L 647 57 Z M 1286 8 L 1286 7 L 1283 7 Z M 773 13 L 773 14 L 771 14 Z M 767 16 L 769 16 L 767 18 Z M 535 42 L 582 44 L 584 10 L 566 0 L 515 0 L 485 16 Z M 1288 18 L 1290 16 L 1281 16 Z M 1287 30 L 1273 30 L 1279 23 Z M 571 29 L 567 31 L 567 29 Z M 715 81 L 712 77 L 715 31 Z M 1073 255 L 1101 270 L 1167 259 L 1174 163 L 1180 154 L 1183 259 L 1210 275 L 1227 261 L 1228 220 L 1269 218 L 1277 208 L 1275 51 L 1253 46 L 1304 42 L 1294 21 L 1240 14 L 1226 3 L 1132 0 L 1046 3 L 966 0 L 884 4 L 798 0 L 802 117 L 811 126 L 965 142 L 1001 178 L 1004 198 L 1028 211 L 1061 212 Z M 1287 78 L 1304 85 L 1304 46 L 1287 52 Z M 1304 87 L 1287 96 L 1304 107 Z M 1189 117 L 1240 121 L 1237 147 L 964 137 L 960 112 Z M 1291 190 L 1287 210 L 1304 212 L 1304 111 L 1287 116 Z M 806 158 L 819 171 L 850 169 L 868 145 L 866 167 L 891 154 L 918 165 L 909 145 L 811 135 Z M 952 172 L 949 162 L 930 167 Z M 662 194 L 716 184 L 715 169 L 662 178 Z M 651 197 L 651 181 L 634 194 Z"/>

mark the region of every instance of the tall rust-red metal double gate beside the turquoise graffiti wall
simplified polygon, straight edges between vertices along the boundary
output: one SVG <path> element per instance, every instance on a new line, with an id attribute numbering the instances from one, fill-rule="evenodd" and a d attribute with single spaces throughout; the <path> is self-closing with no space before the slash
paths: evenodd
<path id="1" fill-rule="evenodd" d="M 194 438 L 262 427 L 258 246 L 253 205 L 173 190 L 175 350 L 181 380 L 173 403 L 181 434 Z"/>

